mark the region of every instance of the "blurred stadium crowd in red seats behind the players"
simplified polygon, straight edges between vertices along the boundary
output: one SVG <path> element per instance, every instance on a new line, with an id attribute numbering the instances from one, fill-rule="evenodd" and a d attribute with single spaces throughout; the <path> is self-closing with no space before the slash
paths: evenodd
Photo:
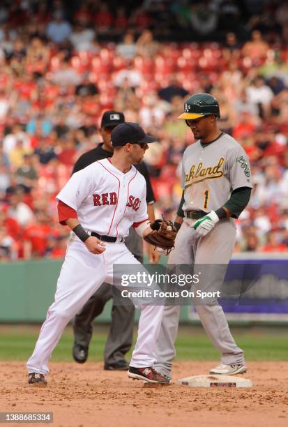
<path id="1" fill-rule="evenodd" d="M 68 229 L 58 224 L 55 195 L 100 142 L 105 110 L 157 135 L 145 161 L 156 216 L 173 218 L 181 156 L 193 143 L 176 117 L 197 92 L 218 98 L 220 128 L 250 157 L 254 190 L 236 221 L 235 250 L 287 252 L 288 2 L 267 1 L 250 14 L 244 39 L 231 20 L 217 43 L 224 11 L 241 13 L 236 1 L 144 1 L 130 13 L 110 3 L 1 2 L 0 259 L 63 256 Z M 200 17 L 206 32 L 195 41 Z M 167 20 L 191 30 L 188 40 L 171 42 Z"/>

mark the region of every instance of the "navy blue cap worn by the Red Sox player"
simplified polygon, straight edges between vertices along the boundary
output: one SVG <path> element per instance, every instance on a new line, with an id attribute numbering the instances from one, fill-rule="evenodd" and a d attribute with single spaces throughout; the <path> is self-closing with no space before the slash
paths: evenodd
<path id="1" fill-rule="evenodd" d="M 112 130 L 111 142 L 113 147 L 130 144 L 149 144 L 156 142 L 157 138 L 152 135 L 146 135 L 138 123 L 126 121 L 119 124 Z"/>

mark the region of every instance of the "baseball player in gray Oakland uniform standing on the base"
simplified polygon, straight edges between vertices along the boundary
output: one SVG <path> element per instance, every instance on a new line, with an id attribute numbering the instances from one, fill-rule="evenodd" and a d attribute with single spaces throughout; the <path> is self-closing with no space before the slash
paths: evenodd
<path id="1" fill-rule="evenodd" d="M 168 264 L 205 264 L 201 290 L 218 291 L 234 249 L 234 218 L 250 200 L 250 167 L 243 148 L 218 128 L 218 101 L 209 93 L 185 100 L 184 119 L 196 142 L 183 153 L 183 195 L 175 225 L 179 230 Z M 215 269 L 219 264 L 220 269 Z M 221 269 L 221 265 L 223 268 Z M 158 372 L 171 377 L 172 360 L 181 306 L 166 306 L 156 345 Z M 246 371 L 243 350 L 229 331 L 217 298 L 209 305 L 195 304 L 202 325 L 220 352 L 220 364 L 212 374 L 235 375 Z"/>

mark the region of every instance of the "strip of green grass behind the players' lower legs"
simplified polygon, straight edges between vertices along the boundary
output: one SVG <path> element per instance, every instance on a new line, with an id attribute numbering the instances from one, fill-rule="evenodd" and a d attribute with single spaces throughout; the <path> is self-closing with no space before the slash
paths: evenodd
<path id="1" fill-rule="evenodd" d="M 40 327 L 29 325 L 0 326 L 0 360 L 26 361 L 33 351 Z M 108 328 L 96 325 L 89 350 L 90 361 L 102 361 Z M 249 361 L 288 361 L 287 328 L 235 327 L 236 343 L 245 350 Z M 53 352 L 52 361 L 73 361 L 73 331 L 66 328 Z M 178 360 L 218 360 L 202 327 L 180 327 L 176 340 Z M 129 359 L 129 354 L 128 354 Z"/>

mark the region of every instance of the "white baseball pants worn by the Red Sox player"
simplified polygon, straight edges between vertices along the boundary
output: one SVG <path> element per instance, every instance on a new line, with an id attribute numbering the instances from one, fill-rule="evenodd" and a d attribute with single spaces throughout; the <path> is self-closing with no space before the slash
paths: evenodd
<path id="1" fill-rule="evenodd" d="M 137 264 L 137 271 L 144 270 L 123 243 L 106 243 L 101 255 L 90 253 L 78 239 L 68 241 L 67 253 L 57 282 L 54 303 L 47 317 L 32 356 L 27 361 L 29 373 L 49 373 L 48 361 L 68 322 L 84 306 L 103 282 L 119 286 L 113 280 L 113 264 Z M 129 290 L 142 289 L 142 285 L 128 285 Z M 155 345 L 162 319 L 163 306 L 139 307 L 138 336 L 130 366 L 145 368 L 156 361 Z"/>

